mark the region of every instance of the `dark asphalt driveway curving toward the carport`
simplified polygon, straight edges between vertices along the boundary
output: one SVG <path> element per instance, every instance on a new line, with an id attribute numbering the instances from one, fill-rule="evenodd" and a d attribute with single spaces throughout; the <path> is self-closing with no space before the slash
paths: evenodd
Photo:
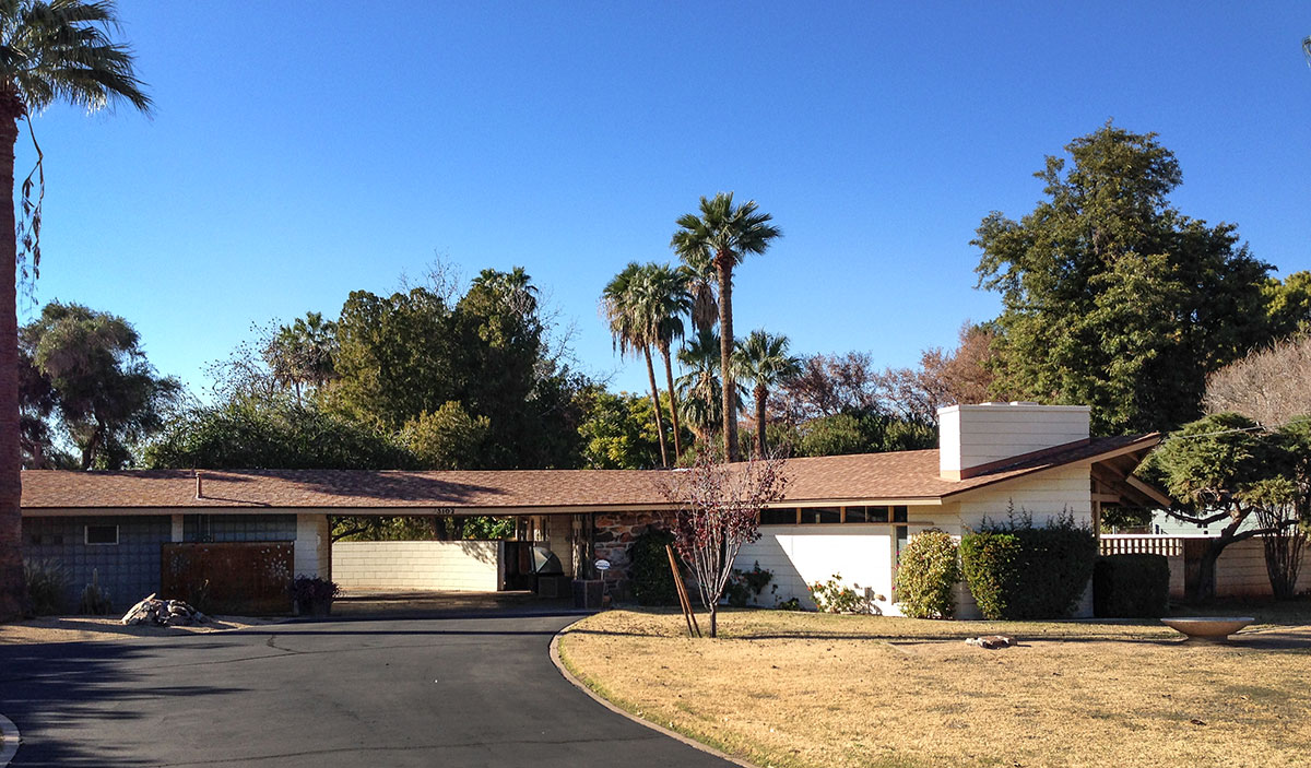
<path id="1" fill-rule="evenodd" d="M 576 619 L 0 646 L 0 713 L 14 765 L 729 765 L 561 678 L 548 646 Z"/>

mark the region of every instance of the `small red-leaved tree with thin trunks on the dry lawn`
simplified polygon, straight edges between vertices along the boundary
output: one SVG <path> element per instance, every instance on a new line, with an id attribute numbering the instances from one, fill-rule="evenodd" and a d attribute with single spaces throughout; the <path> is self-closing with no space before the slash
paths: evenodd
<path id="1" fill-rule="evenodd" d="M 733 561 L 743 544 L 760 537 L 760 510 L 783 498 L 788 478 L 775 456 L 722 464 L 709 452 L 687 469 L 667 474 L 665 497 L 678 505 L 675 543 L 692 571 L 701 603 L 711 612 L 711 637 Z"/>

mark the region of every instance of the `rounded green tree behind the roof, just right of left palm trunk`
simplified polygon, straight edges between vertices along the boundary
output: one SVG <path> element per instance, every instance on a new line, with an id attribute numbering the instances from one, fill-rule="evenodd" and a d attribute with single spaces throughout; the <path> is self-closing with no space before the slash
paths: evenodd
<path id="1" fill-rule="evenodd" d="M 49 408 L 80 452 L 81 469 L 121 469 L 132 446 L 164 425 L 182 393 L 176 379 L 159 377 L 136 330 L 115 315 L 80 304 L 46 304 L 20 332 L 25 377 L 37 393 L 29 415 Z"/>

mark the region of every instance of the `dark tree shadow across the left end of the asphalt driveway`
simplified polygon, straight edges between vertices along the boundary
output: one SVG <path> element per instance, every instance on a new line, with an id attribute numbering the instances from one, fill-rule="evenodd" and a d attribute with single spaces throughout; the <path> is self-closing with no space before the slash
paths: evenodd
<path id="1" fill-rule="evenodd" d="M 140 744 L 85 739 L 87 723 L 136 720 L 132 701 L 241 692 L 214 685 L 125 685 L 134 664 L 159 659 L 166 647 L 118 642 L 0 646 L 0 713 L 22 734 L 14 765 L 113 765 L 127 748 Z"/>

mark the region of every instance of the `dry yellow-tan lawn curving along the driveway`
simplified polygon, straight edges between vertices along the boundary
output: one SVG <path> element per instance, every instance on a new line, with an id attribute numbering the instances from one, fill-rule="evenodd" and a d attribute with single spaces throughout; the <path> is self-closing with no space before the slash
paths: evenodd
<path id="1" fill-rule="evenodd" d="M 560 651 L 619 706 L 758 765 L 1311 765 L 1311 625 L 1230 646 L 1148 623 L 742 611 L 720 626 L 688 640 L 678 613 L 610 611 Z M 992 633 L 1021 645 L 962 642 Z"/>

